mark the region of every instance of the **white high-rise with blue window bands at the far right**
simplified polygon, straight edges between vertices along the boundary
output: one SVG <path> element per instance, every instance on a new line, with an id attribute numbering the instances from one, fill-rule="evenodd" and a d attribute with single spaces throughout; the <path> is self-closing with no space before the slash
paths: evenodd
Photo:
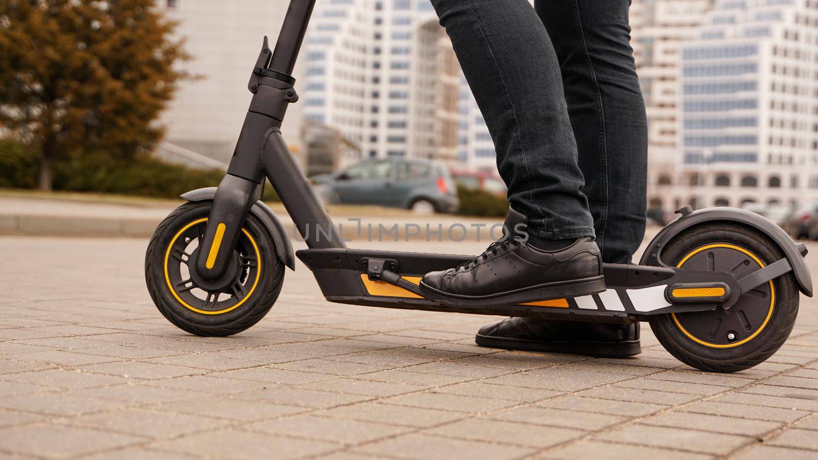
<path id="1" fill-rule="evenodd" d="M 681 47 L 678 163 L 656 179 L 666 185 L 652 200 L 700 208 L 818 198 L 816 45 L 815 0 L 717 0 Z"/>

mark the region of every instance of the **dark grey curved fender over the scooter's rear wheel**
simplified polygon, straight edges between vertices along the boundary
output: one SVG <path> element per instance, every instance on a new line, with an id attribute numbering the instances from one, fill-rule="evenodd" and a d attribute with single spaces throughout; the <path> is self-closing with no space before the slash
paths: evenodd
<path id="1" fill-rule="evenodd" d="M 640 264 L 668 267 L 669 265 L 662 261 L 661 256 L 664 246 L 667 245 L 673 237 L 699 223 L 716 221 L 743 223 L 748 227 L 756 228 L 764 232 L 767 237 L 770 237 L 770 239 L 784 251 L 784 256 L 793 267 L 795 279 L 798 281 L 798 288 L 804 295 L 808 297 L 812 296 L 812 277 L 810 276 L 809 268 L 807 268 L 807 262 L 804 260 L 804 255 L 807 255 L 807 248 L 802 244 L 797 245 L 784 230 L 778 225 L 775 225 L 775 223 L 772 223 L 769 219 L 748 210 L 739 210 L 737 208 L 707 208 L 693 212 L 683 212 L 679 219 L 668 223 L 667 226 L 658 232 L 656 237 L 650 241 L 647 249 L 645 249 L 645 253 L 642 254 Z"/>

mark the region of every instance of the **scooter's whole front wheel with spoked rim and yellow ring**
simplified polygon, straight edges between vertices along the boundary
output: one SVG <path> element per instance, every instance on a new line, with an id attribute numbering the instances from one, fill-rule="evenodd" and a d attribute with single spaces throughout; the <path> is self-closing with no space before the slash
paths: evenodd
<path id="1" fill-rule="evenodd" d="M 231 336 L 261 320 L 284 282 L 272 237 L 254 215 L 245 220 L 224 279 L 194 267 L 212 201 L 179 206 L 156 228 L 145 257 L 145 278 L 156 308 L 197 336 Z"/>

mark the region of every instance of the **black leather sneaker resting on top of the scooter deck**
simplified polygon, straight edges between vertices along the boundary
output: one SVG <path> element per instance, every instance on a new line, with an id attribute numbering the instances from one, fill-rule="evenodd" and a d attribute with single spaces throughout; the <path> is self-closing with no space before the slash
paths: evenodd
<path id="1" fill-rule="evenodd" d="M 525 216 L 509 210 L 506 236 L 457 268 L 426 273 L 420 291 L 447 304 L 496 306 L 578 297 L 605 291 L 600 248 L 591 237 L 560 250 L 525 241 Z"/>

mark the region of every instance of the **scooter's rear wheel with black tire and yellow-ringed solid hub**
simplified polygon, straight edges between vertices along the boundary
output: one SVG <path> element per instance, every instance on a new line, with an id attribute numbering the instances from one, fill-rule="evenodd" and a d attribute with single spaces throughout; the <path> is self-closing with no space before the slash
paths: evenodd
<path id="1" fill-rule="evenodd" d="M 709 249 L 711 247 L 716 249 Z M 665 246 L 661 257 L 666 264 L 678 266 L 685 256 L 693 261 L 692 257 L 699 253 L 712 257 L 712 254 L 706 253 L 715 250 L 744 254 L 744 251 L 736 250 L 736 247 L 755 255 L 755 258 L 747 256 L 744 259 L 744 268 L 735 268 L 737 276 L 739 269 L 744 271 L 740 276 L 760 269 L 755 259 L 767 265 L 784 258 L 780 248 L 762 232 L 726 222 L 704 223 L 685 230 Z M 725 256 L 720 257 L 727 255 L 726 252 L 722 254 Z M 739 255 L 740 257 L 744 255 Z M 699 260 L 703 264 L 716 264 Z M 753 297 L 748 297 L 750 295 Z M 759 300 L 766 298 L 769 300 Z M 770 284 L 758 286 L 758 291 L 743 295 L 727 311 L 717 309 L 712 312 L 681 313 L 678 317 L 663 314 L 651 318 L 649 322 L 659 342 L 682 363 L 708 372 L 737 372 L 763 363 L 775 354 L 793 330 L 797 313 L 798 284 L 793 274 L 787 273 L 775 278 Z M 748 317 L 756 319 L 751 322 Z M 758 319 L 762 317 L 766 319 Z M 730 329 L 730 325 L 735 325 L 736 321 L 744 324 L 745 330 L 739 330 L 738 327 Z M 691 331 L 686 331 L 684 323 L 693 327 L 698 325 L 698 332 L 691 332 L 693 327 L 690 327 Z M 726 328 L 729 330 L 724 331 Z M 707 335 L 701 331 L 711 332 Z M 729 341 L 730 333 L 736 337 L 733 342 Z M 717 340 L 721 342 L 716 343 Z"/>

